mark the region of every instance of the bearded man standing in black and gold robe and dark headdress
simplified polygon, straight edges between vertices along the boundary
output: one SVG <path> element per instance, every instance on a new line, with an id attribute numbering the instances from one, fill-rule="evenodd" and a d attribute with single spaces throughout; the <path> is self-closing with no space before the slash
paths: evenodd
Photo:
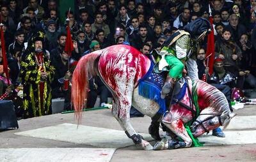
<path id="1" fill-rule="evenodd" d="M 54 67 L 44 50 L 45 34 L 35 33 L 29 40 L 20 63 L 24 85 L 24 118 L 51 114 L 51 87 Z"/>

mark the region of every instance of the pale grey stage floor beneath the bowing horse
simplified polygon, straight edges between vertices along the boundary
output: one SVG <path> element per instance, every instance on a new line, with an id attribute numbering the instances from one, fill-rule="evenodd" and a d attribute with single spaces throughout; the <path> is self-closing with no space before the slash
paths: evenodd
<path id="1" fill-rule="evenodd" d="M 55 161 L 72 161 L 72 157 L 80 157 L 81 161 L 97 159 L 99 162 L 191 161 L 193 158 L 196 161 L 256 161 L 256 105 L 247 105 L 235 112 L 237 116 L 225 130 L 226 138 L 217 138 L 209 133 L 200 137 L 200 141 L 205 142 L 204 147 L 167 151 L 143 151 L 134 145 L 109 109 L 84 112 L 78 129 L 74 114 L 35 117 L 20 120 L 19 129 L 0 133 L 0 159 L 36 161 L 49 155 L 52 160 L 56 156 Z M 134 129 L 148 140 L 151 139 L 148 135 L 150 121 L 150 117 L 131 119 Z M 156 142 L 150 143 L 154 145 Z M 88 152 L 92 152 L 92 156 Z M 15 156 L 21 154 L 24 156 Z"/>

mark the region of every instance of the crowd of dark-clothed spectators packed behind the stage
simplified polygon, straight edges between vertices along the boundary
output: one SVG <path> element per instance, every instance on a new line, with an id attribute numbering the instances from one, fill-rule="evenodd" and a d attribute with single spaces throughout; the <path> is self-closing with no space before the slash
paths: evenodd
<path id="1" fill-rule="evenodd" d="M 74 9 L 66 11 L 68 24 L 61 22 L 58 16 L 59 3 L 57 0 L 1 1 L 1 22 L 13 85 L 22 84 L 20 57 L 35 31 L 44 31 L 46 39 L 43 48 L 55 69 L 54 79 L 49 83 L 52 98 L 67 98 L 67 93 L 63 91 L 63 79 L 70 78 L 72 71 L 69 66 L 83 55 L 116 44 L 131 45 L 143 54 L 148 54 L 154 48 L 161 50 L 161 45 L 175 31 L 183 29 L 198 17 L 209 18 L 212 15 L 215 57 L 222 59 L 225 71 L 236 80 L 232 86 L 241 89 L 244 85 L 256 87 L 256 0 L 75 0 Z M 70 60 L 64 50 L 67 25 L 74 45 Z M 207 39 L 200 43 L 197 50 L 199 76 L 207 70 L 205 57 L 202 57 L 206 47 Z M 1 66 L 0 73 L 2 76 Z M 223 76 L 217 75 L 220 79 Z M 92 96 L 104 94 L 100 101 L 100 105 L 104 106 L 109 92 L 100 82 L 99 78 L 92 78 L 90 88 Z M 1 89 L 1 94 L 10 92 L 10 87 Z M 70 110 L 67 101 L 65 109 Z M 90 107 L 94 103 L 95 97 Z"/>

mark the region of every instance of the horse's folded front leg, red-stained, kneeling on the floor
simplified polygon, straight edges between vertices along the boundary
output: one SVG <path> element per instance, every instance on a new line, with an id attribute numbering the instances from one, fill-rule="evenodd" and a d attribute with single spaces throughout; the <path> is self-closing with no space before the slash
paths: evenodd
<path id="1" fill-rule="evenodd" d="M 183 147 L 190 147 L 192 144 L 192 140 L 186 131 L 184 124 L 181 119 L 176 119 L 172 122 L 163 121 L 164 125 L 169 128 L 173 133 L 182 138 L 184 142 L 179 142 L 178 140 L 162 140 L 161 142 L 157 142 L 154 145 L 154 150 L 163 150 L 163 149 L 179 149 Z"/>

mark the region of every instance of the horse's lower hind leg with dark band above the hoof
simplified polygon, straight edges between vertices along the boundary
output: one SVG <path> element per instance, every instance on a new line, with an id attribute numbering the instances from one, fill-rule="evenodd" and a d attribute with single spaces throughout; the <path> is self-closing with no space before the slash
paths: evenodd
<path id="1" fill-rule="evenodd" d="M 115 100 L 118 101 L 118 100 Z M 141 147 L 145 150 L 152 150 L 153 147 L 150 145 L 149 142 L 143 139 L 143 136 L 136 133 L 134 128 L 132 127 L 131 121 L 130 121 L 130 109 L 131 104 L 129 105 L 123 105 L 122 103 L 118 104 L 113 101 L 113 108 L 112 108 L 112 114 L 116 118 L 116 120 L 119 122 L 120 126 L 125 131 L 125 134 L 132 139 L 134 144 L 140 144 Z M 126 107 L 126 108 L 124 108 Z"/>

